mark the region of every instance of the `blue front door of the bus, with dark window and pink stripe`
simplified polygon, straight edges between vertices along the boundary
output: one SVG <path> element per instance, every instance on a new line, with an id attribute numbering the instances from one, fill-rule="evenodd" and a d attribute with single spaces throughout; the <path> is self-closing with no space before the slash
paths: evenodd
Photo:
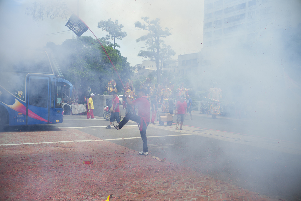
<path id="1" fill-rule="evenodd" d="M 26 124 L 49 123 L 50 77 L 29 75 L 26 79 Z"/>

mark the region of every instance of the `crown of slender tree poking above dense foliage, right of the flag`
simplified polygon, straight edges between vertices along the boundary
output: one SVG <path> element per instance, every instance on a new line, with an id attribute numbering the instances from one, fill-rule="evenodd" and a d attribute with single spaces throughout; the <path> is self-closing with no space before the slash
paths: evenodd
<path id="1" fill-rule="evenodd" d="M 118 23 L 118 20 L 115 20 L 115 22 L 111 21 L 111 18 L 108 21 L 101 20 L 98 22 L 98 28 L 101 28 L 101 30 L 108 32 L 109 34 L 106 35 L 106 39 L 112 39 L 114 40 L 113 46 L 114 49 L 117 47 L 117 44 L 115 42 L 116 39 L 122 40 L 124 37 L 127 36 L 126 32 L 122 32 L 121 29 L 123 28 L 123 25 Z M 103 37 L 103 39 L 105 39 Z M 119 45 L 118 45 L 119 46 Z"/>

